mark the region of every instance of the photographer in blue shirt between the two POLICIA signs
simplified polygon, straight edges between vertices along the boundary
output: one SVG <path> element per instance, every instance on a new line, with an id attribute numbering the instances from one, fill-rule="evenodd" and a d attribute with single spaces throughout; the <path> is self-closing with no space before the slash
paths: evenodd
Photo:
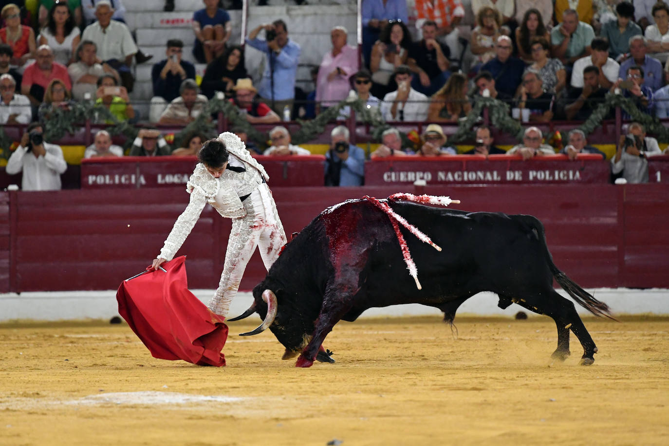
<path id="1" fill-rule="evenodd" d="M 330 150 L 325 154 L 326 186 L 362 186 L 365 180 L 365 151 L 349 143 L 349 129 L 337 126 L 330 133 Z"/>

